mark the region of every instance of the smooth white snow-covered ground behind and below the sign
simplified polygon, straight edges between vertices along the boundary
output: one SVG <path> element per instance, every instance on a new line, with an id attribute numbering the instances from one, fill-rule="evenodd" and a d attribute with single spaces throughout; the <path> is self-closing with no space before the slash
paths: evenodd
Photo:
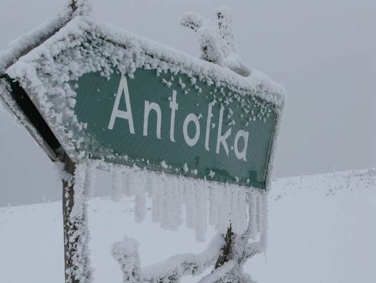
<path id="1" fill-rule="evenodd" d="M 160 229 L 151 213 L 137 224 L 133 211 L 132 199 L 89 200 L 95 282 L 121 282 L 110 248 L 124 234 L 141 243 L 143 266 L 207 246 L 196 243 L 193 230 Z M 246 272 L 259 283 L 375 282 L 375 216 L 375 169 L 276 179 L 269 194 L 268 250 L 249 260 Z M 207 241 L 211 234 L 214 229 Z M 61 202 L 0 208 L 0 282 L 63 282 Z"/>

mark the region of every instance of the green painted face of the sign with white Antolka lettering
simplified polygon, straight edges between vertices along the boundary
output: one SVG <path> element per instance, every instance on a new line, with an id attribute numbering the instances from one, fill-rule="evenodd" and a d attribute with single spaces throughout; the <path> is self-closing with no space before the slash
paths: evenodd
<path id="1" fill-rule="evenodd" d="M 92 159 L 265 188 L 276 115 L 261 99 L 143 69 L 73 84 L 75 114 L 87 124 L 75 134 Z"/>

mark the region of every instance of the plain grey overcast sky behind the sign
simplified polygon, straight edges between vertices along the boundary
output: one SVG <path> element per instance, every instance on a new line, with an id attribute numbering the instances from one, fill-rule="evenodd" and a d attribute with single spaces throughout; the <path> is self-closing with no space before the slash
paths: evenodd
<path id="1" fill-rule="evenodd" d="M 52 17 L 65 0 L 1 0 L 0 49 Z M 94 15 L 198 56 L 195 35 L 178 25 L 195 10 L 233 9 L 242 58 L 288 93 L 275 177 L 376 166 L 376 1 L 108 0 Z M 53 164 L 0 111 L 0 206 L 60 197 Z"/>

